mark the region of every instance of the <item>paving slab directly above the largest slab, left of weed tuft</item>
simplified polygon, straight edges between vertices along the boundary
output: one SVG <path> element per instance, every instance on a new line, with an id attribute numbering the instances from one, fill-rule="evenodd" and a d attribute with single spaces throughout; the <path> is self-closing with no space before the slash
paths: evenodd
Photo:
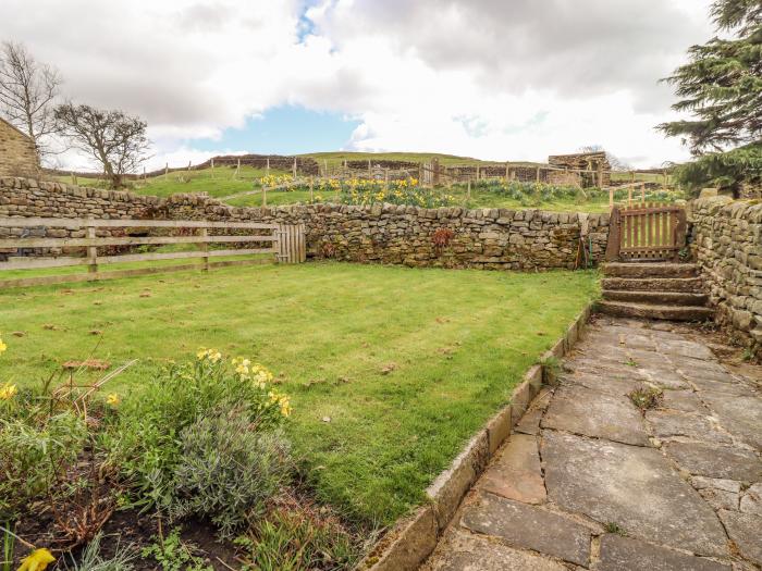
<path id="1" fill-rule="evenodd" d="M 642 415 L 627 397 L 580 386 L 560 387 L 540 425 L 637 446 L 649 442 Z"/>

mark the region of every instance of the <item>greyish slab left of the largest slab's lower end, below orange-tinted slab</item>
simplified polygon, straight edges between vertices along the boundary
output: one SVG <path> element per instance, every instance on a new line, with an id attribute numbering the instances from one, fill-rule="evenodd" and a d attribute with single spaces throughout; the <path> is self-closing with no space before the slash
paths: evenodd
<path id="1" fill-rule="evenodd" d="M 589 527 L 552 511 L 483 494 L 468 506 L 460 524 L 500 537 L 512 547 L 532 549 L 580 566 L 590 559 Z"/>

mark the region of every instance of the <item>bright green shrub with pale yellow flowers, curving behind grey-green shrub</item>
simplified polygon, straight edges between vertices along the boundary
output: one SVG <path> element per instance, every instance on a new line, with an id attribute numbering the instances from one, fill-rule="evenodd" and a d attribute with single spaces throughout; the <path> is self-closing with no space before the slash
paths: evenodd
<path id="1" fill-rule="evenodd" d="M 201 349 L 195 361 L 169 367 L 150 380 L 139 398 L 125 401 L 106 446 L 110 462 L 133 489 L 133 505 L 161 510 L 175 504 L 183 434 L 198 419 L 239 409 L 250 431 L 275 430 L 291 413 L 291 405 L 270 386 L 271 380 L 248 359 L 226 363 L 219 351 Z"/>

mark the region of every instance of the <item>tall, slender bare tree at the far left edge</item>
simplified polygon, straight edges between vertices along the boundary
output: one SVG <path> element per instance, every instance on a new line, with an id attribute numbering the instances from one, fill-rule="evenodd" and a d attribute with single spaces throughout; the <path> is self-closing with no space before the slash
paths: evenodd
<path id="1" fill-rule="evenodd" d="M 29 136 L 40 159 L 54 133 L 52 107 L 61 83 L 59 72 L 35 60 L 22 44 L 0 47 L 0 112 Z"/>

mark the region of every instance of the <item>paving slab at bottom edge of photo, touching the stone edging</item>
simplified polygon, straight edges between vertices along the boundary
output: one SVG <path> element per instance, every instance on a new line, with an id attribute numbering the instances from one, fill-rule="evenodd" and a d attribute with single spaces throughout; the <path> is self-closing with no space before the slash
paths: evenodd
<path id="1" fill-rule="evenodd" d="M 563 564 L 499 541 L 451 527 L 421 571 L 568 571 Z"/>

